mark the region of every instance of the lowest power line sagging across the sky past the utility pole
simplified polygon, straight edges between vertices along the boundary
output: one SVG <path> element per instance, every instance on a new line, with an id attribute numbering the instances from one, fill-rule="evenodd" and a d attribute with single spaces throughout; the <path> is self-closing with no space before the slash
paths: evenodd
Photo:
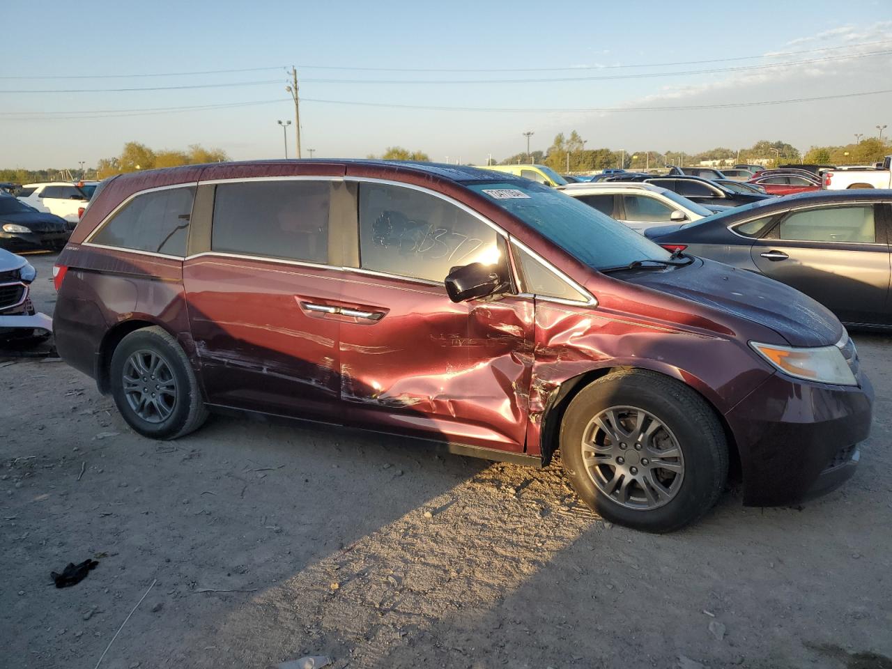
<path id="1" fill-rule="evenodd" d="M 699 111 L 710 109 L 735 109 L 738 107 L 756 107 L 774 104 L 791 104 L 791 103 L 807 103 L 819 102 L 824 100 L 838 100 L 847 97 L 863 97 L 867 95 L 884 95 L 892 93 L 892 89 L 880 91 L 863 91 L 860 93 L 847 93 L 841 95 L 819 95 L 814 97 L 797 97 L 784 100 L 760 100 L 748 103 L 715 103 L 715 104 L 688 104 L 688 105 L 669 105 L 658 107 L 586 107 L 586 108 L 546 108 L 546 107 L 449 107 L 439 105 L 425 104 L 398 104 L 398 103 L 368 103 L 356 100 L 321 100 L 317 98 L 302 97 L 301 102 L 318 103 L 318 104 L 341 104 L 346 106 L 359 107 L 384 107 L 388 109 L 411 109 L 422 111 L 495 111 L 495 112 L 532 112 L 532 113 L 596 113 L 596 112 L 620 112 L 620 111 Z M 261 104 L 278 104 L 289 102 L 287 99 L 279 100 L 256 100 L 244 103 L 226 103 L 226 104 L 202 104 L 188 107 L 155 107 L 149 109 L 129 109 L 129 110 L 93 110 L 93 111 L 2 111 L 0 116 L 5 117 L 28 117 L 42 115 L 41 120 L 61 120 L 61 119 L 105 119 L 117 116 L 147 116 L 163 113 L 178 113 L 182 111 L 208 111 L 216 109 L 229 109 L 234 107 L 247 107 Z M 56 116 L 56 114 L 69 114 L 69 116 Z M 49 118 L 47 118 L 49 117 Z M 12 118 L 15 120 L 35 120 L 29 118 Z"/>

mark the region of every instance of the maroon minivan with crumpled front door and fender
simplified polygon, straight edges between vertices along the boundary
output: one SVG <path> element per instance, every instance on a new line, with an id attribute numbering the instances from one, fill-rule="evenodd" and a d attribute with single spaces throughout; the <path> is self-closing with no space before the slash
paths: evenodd
<path id="1" fill-rule="evenodd" d="M 59 354 L 136 432 L 215 408 L 549 464 L 668 531 L 739 472 L 784 504 L 855 469 L 871 384 L 830 311 L 521 178 L 263 161 L 106 180 L 56 267 Z"/>

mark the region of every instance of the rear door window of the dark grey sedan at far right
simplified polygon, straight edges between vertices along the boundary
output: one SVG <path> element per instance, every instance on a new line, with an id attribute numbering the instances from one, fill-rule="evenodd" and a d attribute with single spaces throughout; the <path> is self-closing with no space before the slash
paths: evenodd
<path id="1" fill-rule="evenodd" d="M 780 221 L 780 239 L 872 244 L 877 241 L 873 207 L 831 207 L 794 211 Z"/>

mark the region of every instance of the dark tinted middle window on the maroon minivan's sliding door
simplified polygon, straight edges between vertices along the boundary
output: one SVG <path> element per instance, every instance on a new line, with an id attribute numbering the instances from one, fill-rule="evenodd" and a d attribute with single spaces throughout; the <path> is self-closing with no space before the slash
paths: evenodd
<path id="1" fill-rule="evenodd" d="M 327 181 L 219 184 L 211 250 L 328 262 Z"/>

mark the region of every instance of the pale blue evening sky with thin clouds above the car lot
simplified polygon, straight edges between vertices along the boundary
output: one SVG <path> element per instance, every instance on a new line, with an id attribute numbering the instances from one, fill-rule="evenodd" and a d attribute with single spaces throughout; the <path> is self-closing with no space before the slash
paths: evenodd
<path id="1" fill-rule="evenodd" d="M 664 153 L 892 131 L 892 0 L 45 0 L 40 14 L 70 20 L 35 17 L 0 46 L 0 168 L 95 166 L 128 141 L 281 158 L 292 65 L 305 158 L 401 145 L 483 163 L 524 151 L 527 131 L 533 150 L 576 130 L 586 148 Z M 692 106 L 711 108 L 665 109 Z M 205 108 L 169 111 L 184 107 Z"/>

